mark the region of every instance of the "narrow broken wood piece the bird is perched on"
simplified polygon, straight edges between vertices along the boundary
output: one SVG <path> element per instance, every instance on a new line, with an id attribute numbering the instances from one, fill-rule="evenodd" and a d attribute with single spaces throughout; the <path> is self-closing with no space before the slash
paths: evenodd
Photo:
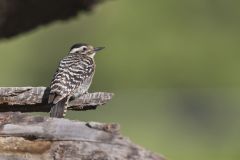
<path id="1" fill-rule="evenodd" d="M 49 112 L 49 88 L 46 87 L 2 87 L 0 88 L 0 112 Z M 96 109 L 107 103 L 113 93 L 87 93 L 70 100 L 69 110 Z"/>

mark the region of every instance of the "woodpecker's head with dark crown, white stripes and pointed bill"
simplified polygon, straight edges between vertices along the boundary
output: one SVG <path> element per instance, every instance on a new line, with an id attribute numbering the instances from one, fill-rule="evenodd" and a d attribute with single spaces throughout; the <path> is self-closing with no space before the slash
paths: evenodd
<path id="1" fill-rule="evenodd" d="M 70 54 L 81 54 L 93 58 L 95 54 L 104 47 L 93 47 L 89 44 L 77 43 L 70 48 Z"/>

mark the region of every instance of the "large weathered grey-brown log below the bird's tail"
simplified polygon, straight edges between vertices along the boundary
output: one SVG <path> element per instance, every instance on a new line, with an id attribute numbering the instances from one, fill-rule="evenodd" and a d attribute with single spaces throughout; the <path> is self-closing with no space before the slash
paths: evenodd
<path id="1" fill-rule="evenodd" d="M 1 160 L 163 160 L 119 133 L 119 125 L 0 113 Z"/>

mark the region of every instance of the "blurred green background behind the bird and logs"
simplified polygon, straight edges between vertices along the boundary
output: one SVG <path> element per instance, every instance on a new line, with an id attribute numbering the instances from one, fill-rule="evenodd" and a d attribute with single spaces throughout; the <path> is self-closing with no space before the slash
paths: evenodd
<path id="1" fill-rule="evenodd" d="M 115 0 L 0 43 L 1 86 L 48 86 L 76 42 L 106 46 L 92 91 L 114 92 L 67 118 L 117 122 L 170 160 L 240 159 L 240 1 Z"/>

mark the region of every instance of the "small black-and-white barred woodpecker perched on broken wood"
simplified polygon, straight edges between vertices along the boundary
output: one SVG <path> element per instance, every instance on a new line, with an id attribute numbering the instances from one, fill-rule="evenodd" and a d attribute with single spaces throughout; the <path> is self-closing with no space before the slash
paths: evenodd
<path id="1" fill-rule="evenodd" d="M 77 43 L 70 48 L 68 55 L 60 61 L 50 84 L 50 117 L 64 118 L 69 99 L 88 92 L 96 69 L 94 56 L 104 48 L 86 43 Z"/>

